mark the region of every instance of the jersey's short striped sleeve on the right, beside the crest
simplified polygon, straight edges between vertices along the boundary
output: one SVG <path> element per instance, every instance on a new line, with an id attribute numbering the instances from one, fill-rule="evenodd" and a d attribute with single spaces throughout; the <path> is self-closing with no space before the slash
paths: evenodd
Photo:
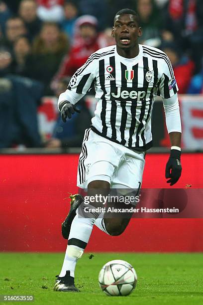
<path id="1" fill-rule="evenodd" d="M 157 95 L 168 99 L 177 92 L 178 85 L 174 76 L 174 71 L 168 56 L 165 54 L 161 65 L 161 77 L 158 83 Z"/>

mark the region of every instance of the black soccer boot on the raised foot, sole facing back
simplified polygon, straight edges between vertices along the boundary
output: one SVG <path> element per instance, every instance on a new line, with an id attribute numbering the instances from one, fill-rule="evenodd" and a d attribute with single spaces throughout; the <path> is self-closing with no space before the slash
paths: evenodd
<path id="1" fill-rule="evenodd" d="M 71 224 L 72 224 L 74 217 L 76 216 L 76 210 L 81 205 L 81 203 L 84 201 L 83 196 L 81 196 L 80 194 L 71 195 L 70 198 L 71 198 L 71 208 L 68 213 L 68 216 L 66 217 L 66 219 L 64 220 L 64 222 L 61 225 L 62 236 L 65 239 L 68 239 L 68 237 L 69 237 L 69 233 L 71 230 Z"/>

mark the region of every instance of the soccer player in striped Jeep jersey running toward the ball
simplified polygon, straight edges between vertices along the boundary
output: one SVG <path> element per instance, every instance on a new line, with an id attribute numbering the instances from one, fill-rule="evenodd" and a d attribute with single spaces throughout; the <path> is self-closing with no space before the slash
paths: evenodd
<path id="1" fill-rule="evenodd" d="M 59 97 L 58 108 L 66 122 L 78 111 L 75 104 L 94 83 L 98 103 L 92 125 L 85 131 L 77 178 L 77 185 L 88 188 L 88 192 L 140 188 L 145 153 L 152 146 L 151 113 L 156 95 L 163 99 L 171 140 L 167 182 L 173 185 L 181 176 L 181 120 L 173 69 L 164 52 L 138 43 L 141 35 L 137 13 L 131 9 L 118 11 L 112 28 L 116 45 L 93 53 Z M 94 224 L 106 234 L 119 235 L 129 222 L 126 217 L 108 218 L 96 212 L 88 218 L 79 217 L 82 204 L 83 197 L 76 195 L 62 224 L 68 246 L 56 291 L 78 291 L 74 271 Z"/>

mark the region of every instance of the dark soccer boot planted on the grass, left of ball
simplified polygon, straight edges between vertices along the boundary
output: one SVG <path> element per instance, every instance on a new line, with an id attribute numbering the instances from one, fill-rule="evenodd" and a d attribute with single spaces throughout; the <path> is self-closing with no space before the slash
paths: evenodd
<path id="1" fill-rule="evenodd" d="M 56 279 L 56 283 L 54 285 L 55 291 L 63 291 L 63 292 L 80 292 L 80 290 L 75 287 L 74 278 L 70 276 L 70 271 L 66 271 L 65 277 L 59 277 Z"/>

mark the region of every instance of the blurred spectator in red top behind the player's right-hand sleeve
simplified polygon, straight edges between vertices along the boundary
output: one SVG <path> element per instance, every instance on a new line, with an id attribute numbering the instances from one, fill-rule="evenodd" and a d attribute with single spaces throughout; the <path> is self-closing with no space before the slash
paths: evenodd
<path id="1" fill-rule="evenodd" d="M 179 87 L 179 94 L 187 93 L 195 69 L 194 62 L 188 56 L 182 55 L 181 50 L 174 42 L 163 42 L 161 49 L 171 61 Z"/>

